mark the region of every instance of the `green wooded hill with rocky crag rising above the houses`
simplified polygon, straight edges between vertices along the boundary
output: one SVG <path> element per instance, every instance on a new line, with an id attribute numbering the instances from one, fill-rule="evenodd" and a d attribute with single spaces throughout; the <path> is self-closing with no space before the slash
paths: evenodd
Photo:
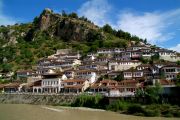
<path id="1" fill-rule="evenodd" d="M 133 41 L 133 42 L 132 42 Z M 100 28 L 76 13 L 45 9 L 31 23 L 0 27 L 0 71 L 29 69 L 57 49 L 72 48 L 83 54 L 98 48 L 127 47 L 146 42 L 122 30 Z"/>

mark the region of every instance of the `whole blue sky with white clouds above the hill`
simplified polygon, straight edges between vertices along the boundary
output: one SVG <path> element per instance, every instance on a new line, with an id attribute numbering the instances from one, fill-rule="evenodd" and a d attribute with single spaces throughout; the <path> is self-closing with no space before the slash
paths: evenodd
<path id="1" fill-rule="evenodd" d="M 31 22 L 45 8 L 77 12 L 180 52 L 180 0 L 0 0 L 0 25 Z"/>

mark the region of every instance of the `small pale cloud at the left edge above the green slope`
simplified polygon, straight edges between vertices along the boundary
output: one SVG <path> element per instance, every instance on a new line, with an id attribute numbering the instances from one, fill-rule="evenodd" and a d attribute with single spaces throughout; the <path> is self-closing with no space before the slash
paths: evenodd
<path id="1" fill-rule="evenodd" d="M 16 19 L 7 16 L 3 13 L 3 2 L 0 1 L 0 25 L 12 25 L 16 22 Z"/>

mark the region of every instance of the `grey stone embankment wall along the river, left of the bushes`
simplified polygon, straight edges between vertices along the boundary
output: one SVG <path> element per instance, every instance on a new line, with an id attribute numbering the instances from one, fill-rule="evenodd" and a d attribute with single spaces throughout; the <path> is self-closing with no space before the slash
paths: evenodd
<path id="1" fill-rule="evenodd" d="M 0 103 L 64 105 L 71 104 L 77 95 L 35 95 L 35 94 L 0 94 Z"/>

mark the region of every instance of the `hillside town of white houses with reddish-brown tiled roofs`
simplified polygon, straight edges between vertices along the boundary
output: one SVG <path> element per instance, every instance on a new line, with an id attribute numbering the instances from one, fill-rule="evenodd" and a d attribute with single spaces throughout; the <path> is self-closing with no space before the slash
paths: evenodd
<path id="1" fill-rule="evenodd" d="M 155 57 L 158 62 L 144 62 Z M 143 90 L 158 83 L 164 94 L 169 94 L 170 89 L 176 87 L 179 60 L 177 52 L 148 44 L 99 48 L 87 55 L 60 49 L 56 54 L 40 59 L 33 70 L 17 71 L 16 79 L 23 83 L 0 84 L 0 90 L 3 93 L 34 94 L 86 92 L 121 97 L 134 96 L 137 89 Z"/>

